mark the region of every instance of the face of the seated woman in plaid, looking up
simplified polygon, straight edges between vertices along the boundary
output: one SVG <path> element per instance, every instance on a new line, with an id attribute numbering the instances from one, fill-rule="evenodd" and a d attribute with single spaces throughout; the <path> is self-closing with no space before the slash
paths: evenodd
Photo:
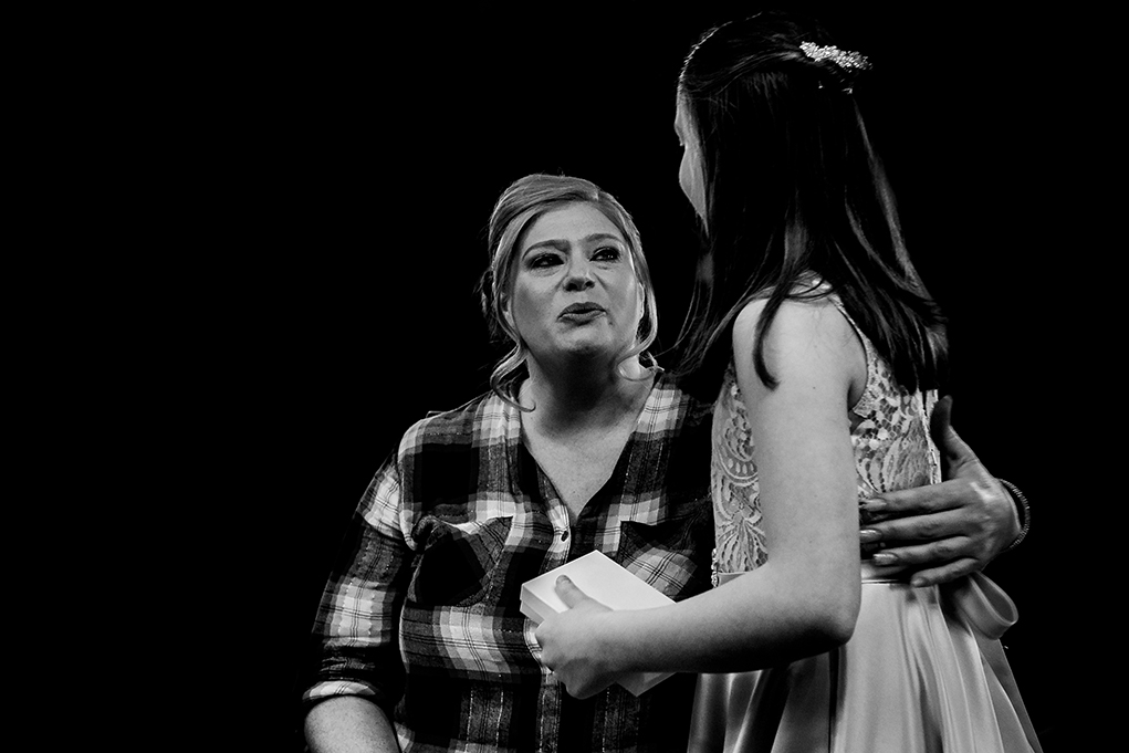
<path id="1" fill-rule="evenodd" d="M 631 251 L 596 207 L 545 212 L 518 242 L 506 315 L 532 358 L 618 358 L 636 341 L 644 289 Z"/>

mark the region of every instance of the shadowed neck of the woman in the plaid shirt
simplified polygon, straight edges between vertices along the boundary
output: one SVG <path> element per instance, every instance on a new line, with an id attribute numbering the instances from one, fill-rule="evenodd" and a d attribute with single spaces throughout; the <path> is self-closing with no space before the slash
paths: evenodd
<path id="1" fill-rule="evenodd" d="M 545 368 L 530 359 L 528 368 L 520 402 L 533 411 L 525 418 L 548 434 L 609 428 L 628 414 L 638 415 L 654 382 L 638 358 L 620 368 L 616 364 Z"/>

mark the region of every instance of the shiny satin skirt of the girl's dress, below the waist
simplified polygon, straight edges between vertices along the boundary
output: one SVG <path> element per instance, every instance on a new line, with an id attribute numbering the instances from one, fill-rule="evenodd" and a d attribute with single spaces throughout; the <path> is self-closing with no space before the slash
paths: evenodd
<path id="1" fill-rule="evenodd" d="M 699 677 L 690 751 L 1041 753 L 999 642 L 1015 619 L 981 573 L 912 588 L 864 568 L 844 646 Z"/>

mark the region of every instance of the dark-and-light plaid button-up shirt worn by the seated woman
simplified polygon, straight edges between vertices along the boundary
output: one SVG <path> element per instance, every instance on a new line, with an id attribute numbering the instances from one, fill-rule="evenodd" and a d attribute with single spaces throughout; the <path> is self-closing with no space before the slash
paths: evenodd
<path id="1" fill-rule="evenodd" d="M 709 406 L 656 379 L 611 479 L 570 527 L 488 394 L 414 424 L 330 577 L 306 703 L 367 697 L 405 751 L 685 750 L 694 676 L 577 700 L 539 662 L 522 584 L 599 550 L 680 599 L 709 588 Z"/>

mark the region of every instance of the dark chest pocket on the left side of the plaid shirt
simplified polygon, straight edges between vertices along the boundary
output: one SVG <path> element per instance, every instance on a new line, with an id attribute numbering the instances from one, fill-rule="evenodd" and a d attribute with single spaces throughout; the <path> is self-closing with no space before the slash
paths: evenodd
<path id="1" fill-rule="evenodd" d="M 415 606 L 467 606 L 487 595 L 509 537 L 511 518 L 473 524 L 425 516 L 412 529 L 420 543 L 408 586 Z"/>

